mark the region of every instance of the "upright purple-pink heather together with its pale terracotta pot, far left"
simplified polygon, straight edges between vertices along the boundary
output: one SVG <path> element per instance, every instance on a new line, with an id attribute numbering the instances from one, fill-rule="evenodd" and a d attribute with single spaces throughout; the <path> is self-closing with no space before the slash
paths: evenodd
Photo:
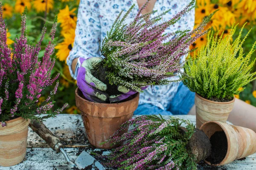
<path id="1" fill-rule="evenodd" d="M 57 18 L 56 18 L 57 19 Z M 55 64 L 54 39 L 56 19 L 52 26 L 51 40 L 45 48 L 44 57 L 38 59 L 41 42 L 46 32 L 44 26 L 41 38 L 31 45 L 26 38 L 26 10 L 21 21 L 21 35 L 16 38 L 14 48 L 6 45 L 6 24 L 0 4 L 0 166 L 12 166 L 23 161 L 26 156 L 26 139 L 30 119 L 54 117 L 63 108 L 47 116 L 40 116 L 52 108 L 52 96 L 56 93 L 58 82 L 50 96 L 38 105 L 41 92 L 58 78 L 51 77 Z"/>

